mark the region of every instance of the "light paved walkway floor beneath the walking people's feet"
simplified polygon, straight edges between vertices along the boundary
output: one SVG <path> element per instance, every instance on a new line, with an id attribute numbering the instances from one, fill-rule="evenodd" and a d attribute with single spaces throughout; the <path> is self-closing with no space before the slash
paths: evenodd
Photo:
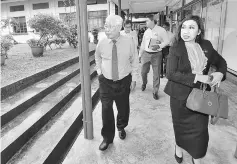
<path id="1" fill-rule="evenodd" d="M 146 91 L 140 90 L 141 83 L 131 94 L 131 115 L 127 138 L 120 140 L 116 132 L 114 143 L 101 152 L 98 150 L 102 141 L 100 130 L 101 103 L 93 113 L 94 139 L 84 139 L 84 133 L 78 136 L 64 164 L 176 164 L 174 158 L 174 132 L 169 97 L 163 92 L 167 79 L 161 80 L 160 99 L 152 98 L 152 77 Z M 234 101 L 237 92 L 227 83 L 229 89 L 230 119 L 220 120 L 217 125 L 209 125 L 209 148 L 204 164 L 236 164 L 234 151 L 237 145 L 237 104 Z M 231 90 L 232 88 L 232 90 Z M 116 110 L 114 110 L 116 111 Z M 117 112 L 115 112 L 116 114 Z M 191 164 L 191 157 L 184 152 L 183 164 Z"/>

